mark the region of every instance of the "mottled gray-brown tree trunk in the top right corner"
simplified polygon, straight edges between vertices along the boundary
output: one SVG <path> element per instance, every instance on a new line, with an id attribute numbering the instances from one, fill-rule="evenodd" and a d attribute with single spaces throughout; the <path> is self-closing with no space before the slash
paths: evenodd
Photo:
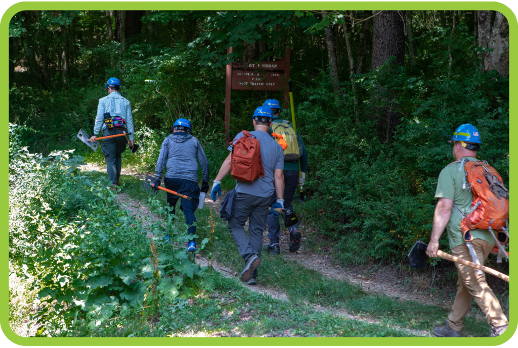
<path id="1" fill-rule="evenodd" d="M 509 77 L 509 23 L 503 14 L 478 11 L 479 46 L 494 49 L 483 52 L 484 70 L 496 70 L 502 77 Z"/>

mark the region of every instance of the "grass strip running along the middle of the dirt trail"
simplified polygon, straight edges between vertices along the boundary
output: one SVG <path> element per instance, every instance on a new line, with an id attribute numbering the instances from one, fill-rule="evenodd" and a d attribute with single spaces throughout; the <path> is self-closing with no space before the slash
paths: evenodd
<path id="1" fill-rule="evenodd" d="M 100 173 L 98 173 L 100 174 Z M 145 176 L 145 175 L 143 175 Z M 141 177 L 123 176 L 123 192 L 137 201 L 146 201 L 149 194 L 140 190 Z M 158 199 L 165 201 L 165 193 L 159 192 Z M 179 214 L 177 223 L 182 223 L 183 214 Z M 211 231 L 210 209 L 197 211 L 200 238 Z M 226 222 L 213 218 L 214 235 L 219 238 L 212 245 L 212 251 L 218 264 L 240 272 L 243 261 L 237 252 L 234 241 L 226 228 Z M 201 260 L 200 260 L 201 261 Z M 365 320 L 377 322 L 382 327 L 403 327 L 409 330 L 431 330 L 443 325 L 448 309 L 439 306 L 423 305 L 415 301 L 399 301 L 386 296 L 369 294 L 347 281 L 324 277 L 318 271 L 301 266 L 286 255 L 262 255 L 262 265 L 258 282 L 272 289 L 283 291 L 290 303 L 296 307 L 313 308 L 320 306 L 329 310 L 360 316 Z M 238 282 L 239 283 L 239 282 Z M 242 286 L 241 286 L 242 288 Z M 319 307 L 316 307 L 319 308 Z M 472 309 L 477 314 L 478 308 Z M 466 336 L 488 336 L 490 329 L 480 315 L 466 318 Z M 376 325 L 376 324 L 372 324 Z M 415 332 L 415 331 L 414 331 Z M 417 332 L 415 332 L 417 334 Z"/>

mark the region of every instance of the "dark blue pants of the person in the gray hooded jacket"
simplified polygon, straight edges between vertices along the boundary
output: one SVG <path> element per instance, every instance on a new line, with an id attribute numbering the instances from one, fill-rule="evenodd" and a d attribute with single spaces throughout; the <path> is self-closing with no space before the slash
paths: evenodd
<path id="1" fill-rule="evenodd" d="M 195 183 L 191 180 L 185 179 L 175 179 L 175 178 L 164 178 L 164 185 L 166 189 L 178 192 L 180 194 L 189 196 L 191 201 L 185 198 L 180 198 L 179 196 L 167 192 L 167 204 L 172 210 L 169 211 L 170 214 L 175 214 L 176 210 L 176 202 L 180 199 L 180 210 L 183 211 L 185 215 L 185 223 L 190 226 L 187 229 L 188 234 L 196 233 L 196 226 L 193 224 L 196 222 L 196 216 L 194 216 L 194 211 L 198 208 L 199 203 L 199 186 L 198 183 Z M 194 239 L 191 239 L 194 240 Z"/>

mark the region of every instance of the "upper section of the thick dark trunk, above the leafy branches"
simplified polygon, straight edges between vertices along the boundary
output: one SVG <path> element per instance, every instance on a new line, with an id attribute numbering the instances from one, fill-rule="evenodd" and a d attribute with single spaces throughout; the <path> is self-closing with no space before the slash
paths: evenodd
<path id="1" fill-rule="evenodd" d="M 397 11 L 383 11 L 373 19 L 372 70 L 378 69 L 391 56 L 396 57 L 397 64 L 403 65 L 405 32 L 401 17 Z"/>

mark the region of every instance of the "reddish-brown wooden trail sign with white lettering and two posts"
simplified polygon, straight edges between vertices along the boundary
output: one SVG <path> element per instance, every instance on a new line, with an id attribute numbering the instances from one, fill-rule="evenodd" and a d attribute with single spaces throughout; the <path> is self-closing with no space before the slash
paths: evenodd
<path id="1" fill-rule="evenodd" d="M 232 47 L 227 54 L 232 53 Z M 290 107 L 290 47 L 286 47 L 284 59 L 263 63 L 230 63 L 226 66 L 225 90 L 225 141 L 229 142 L 230 98 L 232 90 L 283 90 L 284 109 Z"/>

